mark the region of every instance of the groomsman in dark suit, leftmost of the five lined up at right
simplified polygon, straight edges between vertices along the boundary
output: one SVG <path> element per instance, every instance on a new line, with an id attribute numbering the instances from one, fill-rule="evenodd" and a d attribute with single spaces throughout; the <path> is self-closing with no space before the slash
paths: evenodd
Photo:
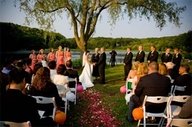
<path id="1" fill-rule="evenodd" d="M 127 53 L 125 54 L 124 57 L 124 80 L 127 79 L 127 76 L 129 74 L 129 71 L 131 70 L 132 67 L 132 59 L 133 59 L 133 53 L 131 52 L 131 48 L 127 48 Z"/>

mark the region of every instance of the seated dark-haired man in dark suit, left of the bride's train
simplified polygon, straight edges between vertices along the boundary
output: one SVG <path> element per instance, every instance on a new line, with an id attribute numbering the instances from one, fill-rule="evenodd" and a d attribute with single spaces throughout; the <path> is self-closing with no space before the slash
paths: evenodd
<path id="1" fill-rule="evenodd" d="M 77 82 L 79 82 L 79 75 L 77 70 L 74 70 L 72 67 L 72 61 L 68 60 L 66 61 L 66 68 L 64 75 L 68 76 L 69 78 L 76 78 Z M 69 82 L 69 87 L 74 87 L 75 82 Z"/>

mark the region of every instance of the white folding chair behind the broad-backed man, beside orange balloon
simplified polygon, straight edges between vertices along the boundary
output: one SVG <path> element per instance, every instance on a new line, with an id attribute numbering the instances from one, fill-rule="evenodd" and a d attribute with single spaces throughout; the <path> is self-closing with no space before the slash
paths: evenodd
<path id="1" fill-rule="evenodd" d="M 167 108 L 167 105 L 168 105 L 168 101 L 169 101 L 169 97 L 165 97 L 165 96 L 145 96 L 144 98 L 144 101 L 143 101 L 143 115 L 144 115 L 144 118 L 143 118 L 143 126 L 146 127 L 146 125 L 158 125 L 161 126 L 162 122 L 163 122 L 163 119 L 162 118 L 166 118 L 168 119 L 168 113 L 169 113 L 169 110 Z M 163 112 L 160 112 L 160 113 L 151 113 L 151 112 L 147 112 L 146 111 L 146 103 L 147 102 L 150 102 L 150 103 L 153 103 L 153 104 L 162 104 L 162 103 L 166 103 L 166 108 L 165 108 L 165 111 Z M 146 119 L 148 117 L 160 117 L 161 120 L 158 124 L 155 124 L 155 123 L 146 123 Z M 141 120 L 138 121 L 138 124 L 137 126 L 139 127 L 139 125 L 141 124 Z"/>

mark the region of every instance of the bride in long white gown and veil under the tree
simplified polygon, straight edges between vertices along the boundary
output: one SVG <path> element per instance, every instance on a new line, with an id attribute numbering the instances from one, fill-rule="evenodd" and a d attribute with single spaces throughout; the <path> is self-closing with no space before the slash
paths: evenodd
<path id="1" fill-rule="evenodd" d="M 94 84 L 92 83 L 92 72 L 93 72 L 93 64 L 90 62 L 90 52 L 84 52 L 83 54 L 83 62 L 82 66 L 83 71 L 81 75 L 79 76 L 79 81 L 82 83 L 83 89 L 93 87 Z"/>

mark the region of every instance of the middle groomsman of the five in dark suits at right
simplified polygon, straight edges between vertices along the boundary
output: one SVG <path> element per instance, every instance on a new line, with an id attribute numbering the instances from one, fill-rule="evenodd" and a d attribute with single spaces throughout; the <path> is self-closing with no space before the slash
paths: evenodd
<path id="1" fill-rule="evenodd" d="M 153 61 L 157 62 L 159 53 L 156 50 L 156 47 L 154 45 L 151 46 L 151 51 L 149 52 L 147 56 L 147 62 L 151 63 Z"/>

